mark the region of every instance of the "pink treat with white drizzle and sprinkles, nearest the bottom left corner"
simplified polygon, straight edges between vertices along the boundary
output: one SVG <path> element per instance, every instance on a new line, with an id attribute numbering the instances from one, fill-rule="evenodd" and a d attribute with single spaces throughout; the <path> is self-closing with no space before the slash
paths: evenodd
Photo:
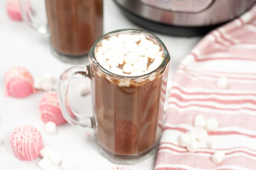
<path id="1" fill-rule="evenodd" d="M 14 129 L 11 145 L 15 156 L 24 161 L 38 158 L 43 148 L 41 133 L 32 126 L 20 126 Z"/>

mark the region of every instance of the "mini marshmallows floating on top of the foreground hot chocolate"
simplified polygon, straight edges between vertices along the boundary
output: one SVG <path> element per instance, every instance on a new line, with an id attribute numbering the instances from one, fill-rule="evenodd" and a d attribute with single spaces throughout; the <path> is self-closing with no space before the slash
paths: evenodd
<path id="1" fill-rule="evenodd" d="M 157 69 L 163 62 L 160 46 L 144 34 L 119 34 L 102 40 L 95 58 L 108 71 L 123 76 L 139 76 Z"/>

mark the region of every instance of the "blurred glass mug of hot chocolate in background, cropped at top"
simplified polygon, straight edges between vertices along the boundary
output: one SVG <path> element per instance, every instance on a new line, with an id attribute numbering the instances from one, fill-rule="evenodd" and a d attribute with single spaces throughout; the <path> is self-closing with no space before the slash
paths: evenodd
<path id="1" fill-rule="evenodd" d="M 23 20 L 40 33 L 49 32 L 54 54 L 64 61 L 87 56 L 103 34 L 102 0 L 20 2 Z"/>

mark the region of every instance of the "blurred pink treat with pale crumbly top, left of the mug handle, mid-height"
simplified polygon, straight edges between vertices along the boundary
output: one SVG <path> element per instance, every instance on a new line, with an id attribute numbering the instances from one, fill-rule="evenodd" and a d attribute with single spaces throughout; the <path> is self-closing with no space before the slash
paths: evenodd
<path id="1" fill-rule="evenodd" d="M 4 75 L 4 83 L 7 95 L 14 98 L 23 98 L 36 91 L 32 75 L 21 66 L 9 69 Z"/>

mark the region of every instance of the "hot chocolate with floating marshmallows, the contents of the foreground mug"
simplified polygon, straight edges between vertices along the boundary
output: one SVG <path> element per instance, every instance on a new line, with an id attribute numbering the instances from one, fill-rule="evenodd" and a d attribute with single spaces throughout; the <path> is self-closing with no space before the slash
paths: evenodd
<path id="1" fill-rule="evenodd" d="M 91 68 L 98 142 L 123 156 L 138 156 L 154 148 L 164 96 L 163 74 L 157 71 L 164 60 L 163 47 L 143 34 L 132 37 L 108 37 L 96 47 L 96 60 L 116 76 L 97 72 L 95 65 Z"/>

